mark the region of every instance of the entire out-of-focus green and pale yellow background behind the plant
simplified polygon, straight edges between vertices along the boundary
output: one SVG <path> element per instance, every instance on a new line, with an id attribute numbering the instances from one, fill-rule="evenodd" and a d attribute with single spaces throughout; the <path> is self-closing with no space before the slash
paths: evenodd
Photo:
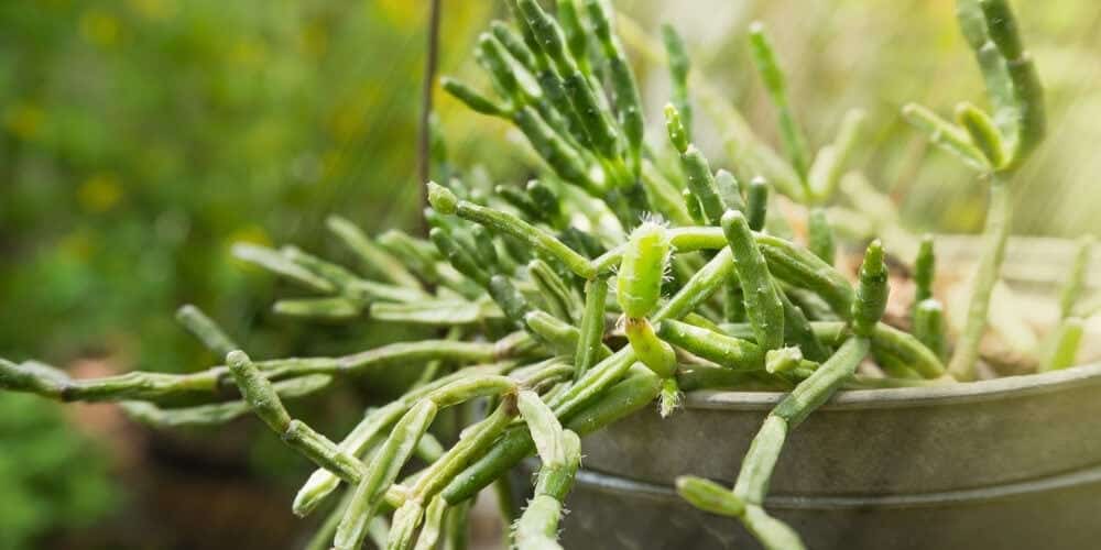
<path id="1" fill-rule="evenodd" d="M 280 285 L 231 258 L 248 241 L 336 255 L 323 221 L 416 231 L 416 129 L 428 2 L 28 0 L 0 2 L 0 356 L 78 376 L 185 372 L 215 358 L 172 314 L 194 302 L 258 355 L 335 354 L 415 334 L 287 321 Z M 439 68 L 476 82 L 477 34 L 504 2 L 443 0 Z M 771 29 L 809 142 L 869 112 L 858 164 L 915 230 L 974 232 L 984 196 L 898 116 L 982 105 L 951 0 L 622 0 L 648 120 L 668 97 L 646 48 L 669 22 L 694 70 L 773 144 L 774 111 L 745 47 Z M 1050 135 L 1015 184 L 1017 234 L 1101 223 L 1101 6 L 1014 2 L 1047 88 Z M 648 35 L 648 38 L 646 37 Z M 651 44 L 646 44 L 648 41 Z M 436 95 L 453 161 L 520 182 L 511 130 Z M 697 128 L 724 158 L 706 111 Z M 662 127 L 651 124 L 652 129 Z M 653 136 L 655 140 L 657 135 Z M 329 433 L 392 392 L 384 373 L 299 405 Z M 0 550 L 293 548 L 290 499 L 308 464 L 251 419 L 157 432 L 112 406 L 0 393 Z"/>

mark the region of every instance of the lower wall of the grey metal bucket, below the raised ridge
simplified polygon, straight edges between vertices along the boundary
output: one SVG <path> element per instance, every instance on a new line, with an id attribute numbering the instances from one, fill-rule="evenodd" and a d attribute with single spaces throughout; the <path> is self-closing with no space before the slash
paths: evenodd
<path id="1" fill-rule="evenodd" d="M 1101 540 L 1101 469 L 991 490 L 765 504 L 811 550 L 1082 550 Z M 567 505 L 565 548 L 761 548 L 737 520 L 701 513 L 662 486 L 585 472 Z"/>

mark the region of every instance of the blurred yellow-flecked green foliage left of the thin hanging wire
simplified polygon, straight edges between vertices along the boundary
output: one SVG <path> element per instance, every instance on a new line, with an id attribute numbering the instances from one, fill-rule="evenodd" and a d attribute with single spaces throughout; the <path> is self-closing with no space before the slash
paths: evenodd
<path id="1" fill-rule="evenodd" d="M 484 9 L 450 9 L 444 41 Z M 317 249 L 331 211 L 407 223 L 425 15 L 400 0 L 0 4 L 0 302 L 20 311 L 0 352 L 196 366 L 179 304 L 263 331 L 273 283 L 229 244 Z M 286 352 L 284 329 L 244 343 Z"/>

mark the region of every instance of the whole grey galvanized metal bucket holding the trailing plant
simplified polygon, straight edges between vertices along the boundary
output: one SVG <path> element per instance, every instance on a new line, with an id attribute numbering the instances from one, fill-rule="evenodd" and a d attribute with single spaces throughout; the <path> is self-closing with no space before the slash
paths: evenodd
<path id="1" fill-rule="evenodd" d="M 782 397 L 696 393 L 586 438 L 566 548 L 760 548 L 672 485 L 732 483 Z M 814 550 L 1101 548 L 1101 364 L 843 392 L 791 435 L 766 507 Z"/>

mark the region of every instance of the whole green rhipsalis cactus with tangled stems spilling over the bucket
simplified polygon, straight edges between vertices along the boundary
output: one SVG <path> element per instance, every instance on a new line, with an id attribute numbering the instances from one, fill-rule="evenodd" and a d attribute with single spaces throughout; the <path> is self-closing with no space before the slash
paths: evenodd
<path id="1" fill-rule="evenodd" d="M 33 361 L 3 361 L 0 387 L 63 402 L 117 402 L 154 426 L 222 424 L 252 411 L 316 464 L 293 510 L 305 516 L 331 501 L 312 548 L 337 549 L 360 548 L 369 538 L 393 549 L 461 544 L 470 501 L 494 482 L 508 493 L 510 471 L 535 454 L 534 497 L 522 515 L 502 508 L 514 522 L 512 543 L 555 548 L 580 437 L 655 399 L 662 416 L 676 414 L 683 392 L 781 391 L 786 395 L 765 418 L 731 490 L 691 476 L 679 479 L 677 490 L 700 509 L 737 518 L 767 548 L 802 548 L 799 536 L 765 510 L 792 430 L 839 389 L 973 376 L 1007 233 L 1005 187 L 1044 125 L 1035 68 L 1007 6 L 960 1 L 993 116 L 963 105 L 956 125 L 918 107 L 905 111 L 991 186 L 988 242 L 968 326 L 953 344 L 935 296 L 931 239 L 913 262 L 912 314 L 894 318 L 883 317 L 890 240 L 840 245 L 824 207 L 844 187 L 862 116 L 846 117 L 837 140 L 811 157 L 763 26 L 751 29 L 751 47 L 778 110 L 787 161 L 765 156 L 775 157 L 772 173 L 795 174 L 797 188 L 766 179 L 755 165 L 716 172 L 693 144 L 693 128 L 705 120 L 689 117 L 689 64 L 672 29 L 664 33 L 674 97 L 655 124 L 668 142 L 647 144 L 610 6 L 558 0 L 556 19 L 535 0 L 509 3 L 515 22 L 493 22 L 475 52 L 495 97 L 451 78 L 443 87 L 472 110 L 513 123 L 545 163 L 536 179 L 494 186 L 473 170 L 437 163 L 450 167 L 446 179 L 426 183 L 427 239 L 399 231 L 372 239 L 344 219 L 328 220 L 355 270 L 294 248 L 235 251 L 313 293 L 276 302 L 280 315 L 419 324 L 436 328 L 438 338 L 342 356 L 253 361 L 187 306 L 178 319 L 224 365 L 73 380 Z M 793 224 L 771 208 L 780 200 L 806 207 L 805 238 L 793 237 Z M 837 260 L 853 244 L 864 249 L 862 262 L 846 273 Z M 1084 242 L 1079 256 L 1088 250 Z M 1064 322 L 1044 369 L 1073 364 L 1081 319 L 1095 312 L 1078 306 L 1084 262 L 1068 277 Z M 941 361 L 952 346 L 946 371 Z M 348 433 L 330 438 L 286 408 L 290 399 L 382 366 L 423 374 Z M 442 433 L 434 420 L 453 407 L 479 414 L 460 433 Z M 454 443 L 442 448 L 438 440 Z"/>

